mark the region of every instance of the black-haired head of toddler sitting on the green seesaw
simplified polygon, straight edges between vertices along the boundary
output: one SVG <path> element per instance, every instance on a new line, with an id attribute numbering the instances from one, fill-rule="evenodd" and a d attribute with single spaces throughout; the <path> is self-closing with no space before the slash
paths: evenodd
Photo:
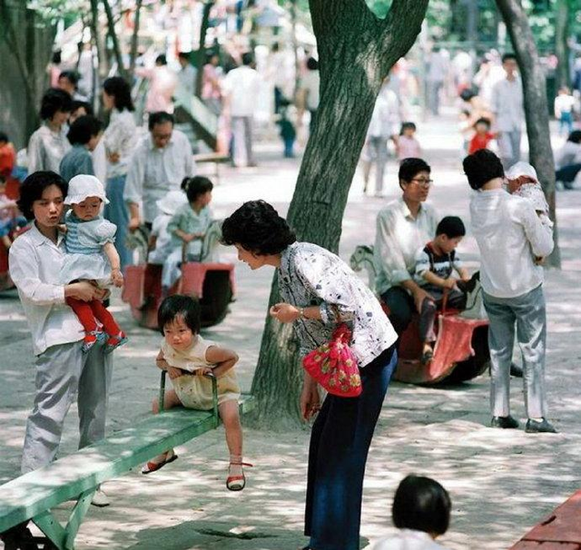
<path id="1" fill-rule="evenodd" d="M 173 349 L 188 349 L 200 332 L 200 302 L 190 296 L 172 294 L 157 310 L 157 325 Z"/>

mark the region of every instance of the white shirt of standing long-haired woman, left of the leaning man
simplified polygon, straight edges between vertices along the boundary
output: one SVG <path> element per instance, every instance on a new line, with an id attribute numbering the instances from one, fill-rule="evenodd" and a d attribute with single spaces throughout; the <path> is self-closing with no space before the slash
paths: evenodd
<path id="1" fill-rule="evenodd" d="M 119 154 L 119 162 L 114 164 L 107 161 L 107 177 L 122 176 L 129 170 L 129 162 L 135 145 L 137 144 L 137 126 L 131 111 L 113 109 L 109 125 L 103 133 L 105 150 L 108 153 Z"/>

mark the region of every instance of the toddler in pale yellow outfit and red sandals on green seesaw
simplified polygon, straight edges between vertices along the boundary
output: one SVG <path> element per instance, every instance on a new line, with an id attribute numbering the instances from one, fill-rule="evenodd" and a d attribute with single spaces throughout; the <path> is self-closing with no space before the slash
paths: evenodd
<path id="1" fill-rule="evenodd" d="M 200 336 L 200 305 L 189 296 L 173 294 L 162 301 L 157 314 L 162 331 L 162 349 L 155 364 L 166 370 L 173 389 L 165 392 L 163 408 L 212 409 L 213 375 L 218 381 L 218 409 L 226 430 L 230 467 L 226 487 L 241 491 L 246 485 L 242 462 L 242 428 L 238 412 L 240 387 L 233 367 L 238 355 Z M 159 412 L 157 399 L 153 414 Z M 177 458 L 173 449 L 148 462 L 142 474 L 151 474 Z"/>

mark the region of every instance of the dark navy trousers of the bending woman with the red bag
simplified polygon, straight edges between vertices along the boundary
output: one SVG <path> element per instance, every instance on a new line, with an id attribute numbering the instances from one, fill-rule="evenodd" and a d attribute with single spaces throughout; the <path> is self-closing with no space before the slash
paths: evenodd
<path id="1" fill-rule="evenodd" d="M 365 464 L 389 379 L 395 346 L 361 368 L 359 398 L 328 395 L 310 434 L 305 535 L 314 550 L 359 550 Z"/>

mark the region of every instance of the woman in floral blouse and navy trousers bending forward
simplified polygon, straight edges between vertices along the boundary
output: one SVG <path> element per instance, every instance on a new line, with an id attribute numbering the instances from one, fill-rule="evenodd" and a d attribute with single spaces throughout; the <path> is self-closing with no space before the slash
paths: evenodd
<path id="1" fill-rule="evenodd" d="M 329 394 L 321 407 L 317 382 L 305 373 L 300 411 L 305 419 L 319 411 L 310 436 L 305 548 L 356 550 L 365 464 L 397 363 L 396 332 L 347 264 L 329 250 L 297 242 L 269 203 L 245 202 L 223 222 L 222 241 L 234 245 L 251 270 L 276 268 L 282 301 L 272 306 L 271 316 L 293 323 L 301 357 L 334 340 L 340 326 L 350 329 L 359 397 Z"/>

